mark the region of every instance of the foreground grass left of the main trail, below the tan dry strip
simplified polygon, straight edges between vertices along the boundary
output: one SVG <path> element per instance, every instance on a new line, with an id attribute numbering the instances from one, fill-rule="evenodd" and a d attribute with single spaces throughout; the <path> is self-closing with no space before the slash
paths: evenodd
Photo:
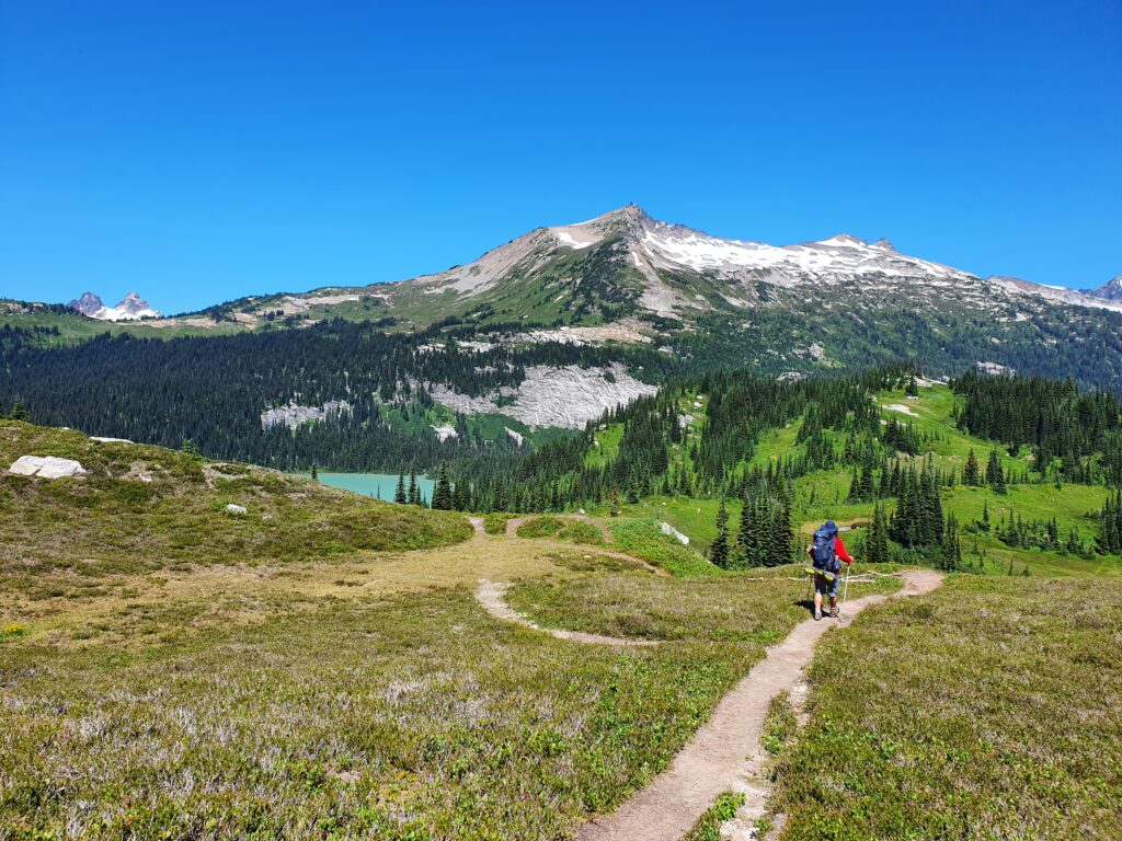
<path id="1" fill-rule="evenodd" d="M 574 647 L 470 590 L 276 601 L 142 646 L 6 640 L 9 839 L 564 838 L 663 768 L 753 649 Z"/>

